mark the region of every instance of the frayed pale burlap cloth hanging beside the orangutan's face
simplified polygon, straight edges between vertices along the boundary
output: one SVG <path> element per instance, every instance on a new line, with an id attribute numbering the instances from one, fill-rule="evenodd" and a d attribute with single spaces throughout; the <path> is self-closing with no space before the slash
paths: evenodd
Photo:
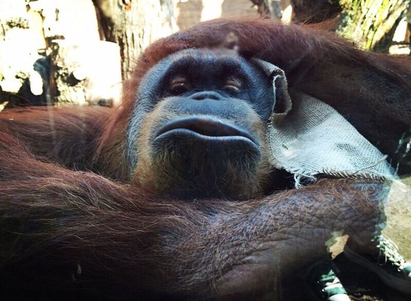
<path id="1" fill-rule="evenodd" d="M 273 78 L 270 161 L 294 174 L 296 188 L 318 177 L 396 178 L 386 156 L 341 114 L 301 91 L 288 91 L 282 69 L 260 59 L 254 62 Z"/>

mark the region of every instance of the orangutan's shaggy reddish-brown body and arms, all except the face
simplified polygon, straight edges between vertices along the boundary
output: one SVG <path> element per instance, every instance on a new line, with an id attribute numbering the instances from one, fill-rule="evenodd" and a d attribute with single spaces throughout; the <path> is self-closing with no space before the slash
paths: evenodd
<path id="1" fill-rule="evenodd" d="M 333 231 L 370 239 L 388 184 L 323 179 L 242 202 L 182 202 L 130 185 L 127 129 L 142 77 L 181 49 L 224 46 L 230 33 L 241 55 L 281 67 L 293 88 L 331 104 L 394 154 L 411 123 L 409 61 L 270 21 L 199 25 L 145 51 L 121 108 L 0 113 L 3 289 L 258 298 L 272 279 L 323 256 Z"/>

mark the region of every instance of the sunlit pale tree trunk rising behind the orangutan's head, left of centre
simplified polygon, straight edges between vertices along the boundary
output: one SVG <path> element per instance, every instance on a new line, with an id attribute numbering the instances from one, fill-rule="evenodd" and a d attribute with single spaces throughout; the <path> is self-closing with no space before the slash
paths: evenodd
<path id="1" fill-rule="evenodd" d="M 177 30 L 173 0 L 93 0 L 106 41 L 120 46 L 122 76 L 129 78 L 133 62 L 156 39 Z"/>

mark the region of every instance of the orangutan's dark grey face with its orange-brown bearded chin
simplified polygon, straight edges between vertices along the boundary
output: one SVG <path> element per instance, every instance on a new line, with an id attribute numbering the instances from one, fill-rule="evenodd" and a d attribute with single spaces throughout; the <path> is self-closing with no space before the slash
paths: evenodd
<path id="1" fill-rule="evenodd" d="M 138 98 L 128 129 L 134 182 L 188 198 L 264 190 L 274 98 L 251 62 L 230 50 L 184 50 L 146 75 Z"/>

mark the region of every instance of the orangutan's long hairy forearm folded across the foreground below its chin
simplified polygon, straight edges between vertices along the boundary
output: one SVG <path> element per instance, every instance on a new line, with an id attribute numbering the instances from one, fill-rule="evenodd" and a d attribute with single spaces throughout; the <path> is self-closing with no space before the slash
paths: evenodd
<path id="1" fill-rule="evenodd" d="M 255 293 L 323 255 L 332 231 L 372 229 L 383 190 L 323 180 L 260 200 L 186 203 L 39 162 L 3 133 L 1 262 L 56 288 Z"/>

